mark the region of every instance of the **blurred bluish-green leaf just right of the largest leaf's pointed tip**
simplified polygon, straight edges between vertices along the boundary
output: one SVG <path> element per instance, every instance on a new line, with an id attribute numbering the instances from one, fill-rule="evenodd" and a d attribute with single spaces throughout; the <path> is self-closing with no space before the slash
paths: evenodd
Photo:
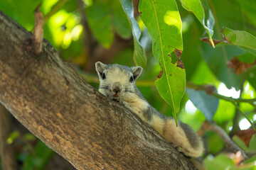
<path id="1" fill-rule="evenodd" d="M 196 91 L 195 89 L 186 89 L 186 93 L 196 108 L 205 115 L 206 120 L 213 120 L 218 109 L 219 99 L 206 94 L 205 91 Z"/>

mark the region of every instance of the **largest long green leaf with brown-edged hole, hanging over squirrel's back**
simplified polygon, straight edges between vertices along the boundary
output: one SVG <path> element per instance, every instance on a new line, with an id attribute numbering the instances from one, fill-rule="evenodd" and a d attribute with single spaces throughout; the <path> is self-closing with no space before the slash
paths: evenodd
<path id="1" fill-rule="evenodd" d="M 152 38 L 154 57 L 163 69 L 161 78 L 155 81 L 156 88 L 173 109 L 172 114 L 176 119 L 186 84 L 185 69 L 171 61 L 181 57 L 183 50 L 181 18 L 176 1 L 140 1 L 139 12 Z"/>

